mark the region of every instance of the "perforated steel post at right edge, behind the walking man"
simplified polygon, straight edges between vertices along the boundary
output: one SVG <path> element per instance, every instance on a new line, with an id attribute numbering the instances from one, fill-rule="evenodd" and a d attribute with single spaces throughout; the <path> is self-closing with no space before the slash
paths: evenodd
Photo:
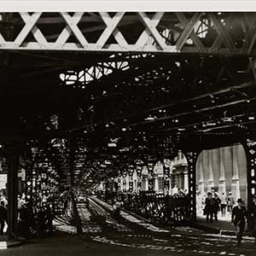
<path id="1" fill-rule="evenodd" d="M 256 195 L 256 140 L 247 139 L 242 143 L 247 155 L 247 210 L 248 228 L 252 227 L 250 218 L 253 207 L 253 195 Z"/>

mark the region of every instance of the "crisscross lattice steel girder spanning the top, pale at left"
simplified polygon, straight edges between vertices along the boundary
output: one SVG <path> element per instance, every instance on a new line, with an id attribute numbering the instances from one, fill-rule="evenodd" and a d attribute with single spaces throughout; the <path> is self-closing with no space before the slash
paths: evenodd
<path id="1" fill-rule="evenodd" d="M 1 23 L 0 49 L 256 53 L 253 13 L 3 13 Z"/>

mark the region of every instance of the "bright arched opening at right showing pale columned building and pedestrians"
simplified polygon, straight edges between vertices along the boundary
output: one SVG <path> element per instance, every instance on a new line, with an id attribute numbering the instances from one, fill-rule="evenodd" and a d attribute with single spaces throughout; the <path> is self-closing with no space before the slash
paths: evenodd
<path id="1" fill-rule="evenodd" d="M 198 219 L 204 218 L 205 199 L 212 192 L 221 200 L 218 220 L 230 222 L 231 208 L 238 198 L 247 207 L 247 158 L 242 145 L 203 150 L 196 163 L 196 184 Z"/>

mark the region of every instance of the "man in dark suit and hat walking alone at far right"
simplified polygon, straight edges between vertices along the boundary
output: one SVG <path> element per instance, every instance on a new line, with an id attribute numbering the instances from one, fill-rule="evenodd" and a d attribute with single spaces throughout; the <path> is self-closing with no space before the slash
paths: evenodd
<path id="1" fill-rule="evenodd" d="M 247 210 L 246 207 L 243 206 L 243 201 L 241 198 L 237 200 L 237 206 L 232 210 L 232 223 L 236 227 L 236 238 L 237 238 L 237 246 L 241 246 L 241 238 L 244 232 L 246 218 L 247 218 Z"/>

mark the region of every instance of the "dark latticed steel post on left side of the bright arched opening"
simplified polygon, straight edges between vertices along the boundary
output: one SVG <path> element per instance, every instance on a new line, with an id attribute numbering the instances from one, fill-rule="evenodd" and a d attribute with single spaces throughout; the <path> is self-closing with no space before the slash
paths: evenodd
<path id="1" fill-rule="evenodd" d="M 196 220 L 196 160 L 199 152 L 184 153 L 188 161 L 190 218 Z"/>

